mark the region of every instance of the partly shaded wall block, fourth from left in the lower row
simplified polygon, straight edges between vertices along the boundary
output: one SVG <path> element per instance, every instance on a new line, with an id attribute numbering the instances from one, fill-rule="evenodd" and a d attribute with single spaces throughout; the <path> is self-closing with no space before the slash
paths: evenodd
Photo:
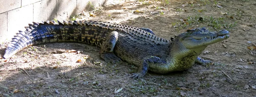
<path id="1" fill-rule="evenodd" d="M 57 0 L 57 19 L 67 20 L 76 13 L 76 0 Z"/>

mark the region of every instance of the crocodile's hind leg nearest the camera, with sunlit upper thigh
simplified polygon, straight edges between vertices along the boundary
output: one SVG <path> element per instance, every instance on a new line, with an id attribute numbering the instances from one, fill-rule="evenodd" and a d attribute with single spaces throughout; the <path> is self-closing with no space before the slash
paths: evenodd
<path id="1" fill-rule="evenodd" d="M 118 32 L 112 31 L 110 34 L 108 34 L 108 37 L 106 38 L 106 41 L 102 43 L 101 50 L 100 50 L 100 57 L 105 60 L 105 62 L 119 62 L 121 59 L 119 57 L 116 57 L 116 55 L 113 53 L 113 49 L 116 45 L 116 42 L 118 40 Z"/>

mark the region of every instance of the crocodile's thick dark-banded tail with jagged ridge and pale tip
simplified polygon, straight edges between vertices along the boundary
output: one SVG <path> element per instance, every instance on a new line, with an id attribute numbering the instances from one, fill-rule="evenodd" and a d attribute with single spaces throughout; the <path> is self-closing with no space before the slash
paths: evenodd
<path id="1" fill-rule="evenodd" d="M 101 46 L 106 32 L 113 29 L 87 24 L 87 21 L 59 22 L 47 21 L 29 24 L 26 31 L 19 31 L 6 48 L 4 58 L 12 57 L 17 52 L 42 43 L 76 42 Z"/>

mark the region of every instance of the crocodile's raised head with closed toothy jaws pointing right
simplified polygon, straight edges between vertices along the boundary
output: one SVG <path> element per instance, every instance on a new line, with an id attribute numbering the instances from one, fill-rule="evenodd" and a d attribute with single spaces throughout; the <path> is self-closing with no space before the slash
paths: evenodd
<path id="1" fill-rule="evenodd" d="M 207 46 L 225 40 L 228 37 L 230 35 L 227 30 L 209 31 L 203 27 L 187 30 L 185 33 L 178 35 L 175 37 L 172 45 L 179 46 L 178 48 L 182 49 L 177 52 L 190 53 L 187 51 L 192 51 L 199 55 Z M 177 47 L 174 46 L 172 49 L 174 48 Z"/>

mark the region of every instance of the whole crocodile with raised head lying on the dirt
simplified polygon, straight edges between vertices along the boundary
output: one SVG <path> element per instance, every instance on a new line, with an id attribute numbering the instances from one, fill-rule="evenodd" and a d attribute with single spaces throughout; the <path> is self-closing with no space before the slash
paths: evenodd
<path id="1" fill-rule="evenodd" d="M 209 45 L 230 37 L 229 31 L 209 31 L 205 27 L 188 29 L 172 40 L 157 37 L 151 29 L 97 21 L 45 21 L 29 24 L 19 31 L 6 48 L 4 58 L 28 46 L 53 42 L 77 42 L 100 47 L 105 62 L 123 60 L 138 67 L 132 78 L 149 71 L 166 74 L 186 70 L 194 63 L 210 61 L 198 57 Z"/>

